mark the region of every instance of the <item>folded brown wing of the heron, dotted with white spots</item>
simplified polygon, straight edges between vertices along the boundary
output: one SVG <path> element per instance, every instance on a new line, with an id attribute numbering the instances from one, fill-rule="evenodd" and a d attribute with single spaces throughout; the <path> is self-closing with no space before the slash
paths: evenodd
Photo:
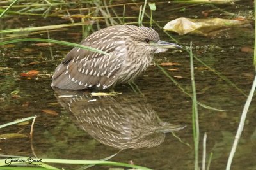
<path id="1" fill-rule="evenodd" d="M 72 90 L 90 87 L 106 89 L 115 83 L 126 55 L 124 41 L 93 44 L 83 41 L 82 44 L 108 52 L 111 56 L 73 48 L 56 67 L 52 87 Z"/>

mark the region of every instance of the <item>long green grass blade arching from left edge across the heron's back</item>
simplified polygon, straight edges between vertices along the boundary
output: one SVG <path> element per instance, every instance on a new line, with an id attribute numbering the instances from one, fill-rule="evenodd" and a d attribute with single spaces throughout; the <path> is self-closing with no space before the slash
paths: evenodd
<path id="1" fill-rule="evenodd" d="M 56 43 L 56 44 L 65 45 L 65 46 L 75 46 L 77 48 L 83 48 L 84 50 L 88 50 L 91 52 L 97 52 L 97 53 L 102 53 L 104 55 L 109 55 L 109 53 L 103 52 L 96 48 L 92 48 L 90 46 L 80 45 L 80 44 L 76 44 L 76 43 L 69 43 L 67 41 L 58 41 L 58 40 L 54 40 L 54 39 L 40 39 L 40 38 L 13 39 L 11 41 L 1 42 L 0 45 L 6 45 L 6 44 L 18 43 L 18 42 L 24 42 L 24 41 L 42 41 L 42 42 L 47 42 L 47 43 Z"/>

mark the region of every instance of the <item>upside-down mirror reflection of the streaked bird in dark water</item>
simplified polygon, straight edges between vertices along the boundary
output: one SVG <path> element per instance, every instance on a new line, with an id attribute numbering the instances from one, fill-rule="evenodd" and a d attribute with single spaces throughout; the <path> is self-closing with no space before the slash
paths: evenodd
<path id="1" fill-rule="evenodd" d="M 154 147 L 163 143 L 166 132 L 184 128 L 161 121 L 140 95 L 92 96 L 83 91 L 54 91 L 79 127 L 100 143 L 115 148 Z"/>

